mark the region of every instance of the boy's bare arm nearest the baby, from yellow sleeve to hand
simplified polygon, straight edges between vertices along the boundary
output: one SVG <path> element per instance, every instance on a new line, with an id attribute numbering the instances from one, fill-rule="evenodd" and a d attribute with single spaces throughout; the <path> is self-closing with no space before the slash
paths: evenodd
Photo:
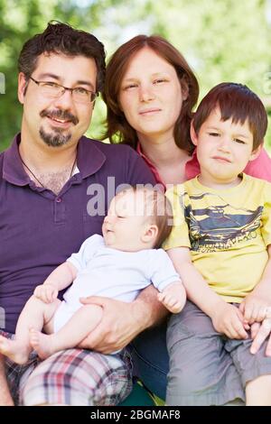
<path id="1" fill-rule="evenodd" d="M 187 298 L 211 318 L 215 329 L 230 338 L 247 338 L 242 314 L 210 289 L 201 273 L 192 264 L 189 248 L 178 247 L 168 250 L 167 253 L 182 279 Z"/>

